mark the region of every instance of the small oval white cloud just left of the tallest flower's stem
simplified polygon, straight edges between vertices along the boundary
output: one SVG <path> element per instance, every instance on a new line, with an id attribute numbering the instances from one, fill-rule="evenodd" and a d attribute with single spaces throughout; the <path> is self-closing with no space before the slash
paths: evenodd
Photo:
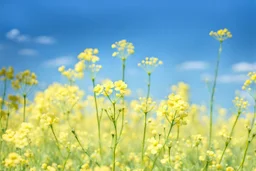
<path id="1" fill-rule="evenodd" d="M 180 70 L 205 70 L 208 63 L 204 61 L 186 61 L 178 66 Z"/>

